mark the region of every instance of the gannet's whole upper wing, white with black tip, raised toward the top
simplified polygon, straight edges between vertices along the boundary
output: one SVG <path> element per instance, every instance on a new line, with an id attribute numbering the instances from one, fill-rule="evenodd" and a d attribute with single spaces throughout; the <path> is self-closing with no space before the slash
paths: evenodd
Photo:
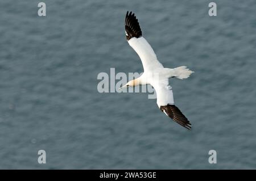
<path id="1" fill-rule="evenodd" d="M 129 13 L 129 11 L 127 11 L 125 17 L 125 33 L 129 45 L 141 58 L 144 71 L 163 68 L 163 65 L 158 61 L 154 50 L 142 36 L 138 19 L 132 12 Z"/>

